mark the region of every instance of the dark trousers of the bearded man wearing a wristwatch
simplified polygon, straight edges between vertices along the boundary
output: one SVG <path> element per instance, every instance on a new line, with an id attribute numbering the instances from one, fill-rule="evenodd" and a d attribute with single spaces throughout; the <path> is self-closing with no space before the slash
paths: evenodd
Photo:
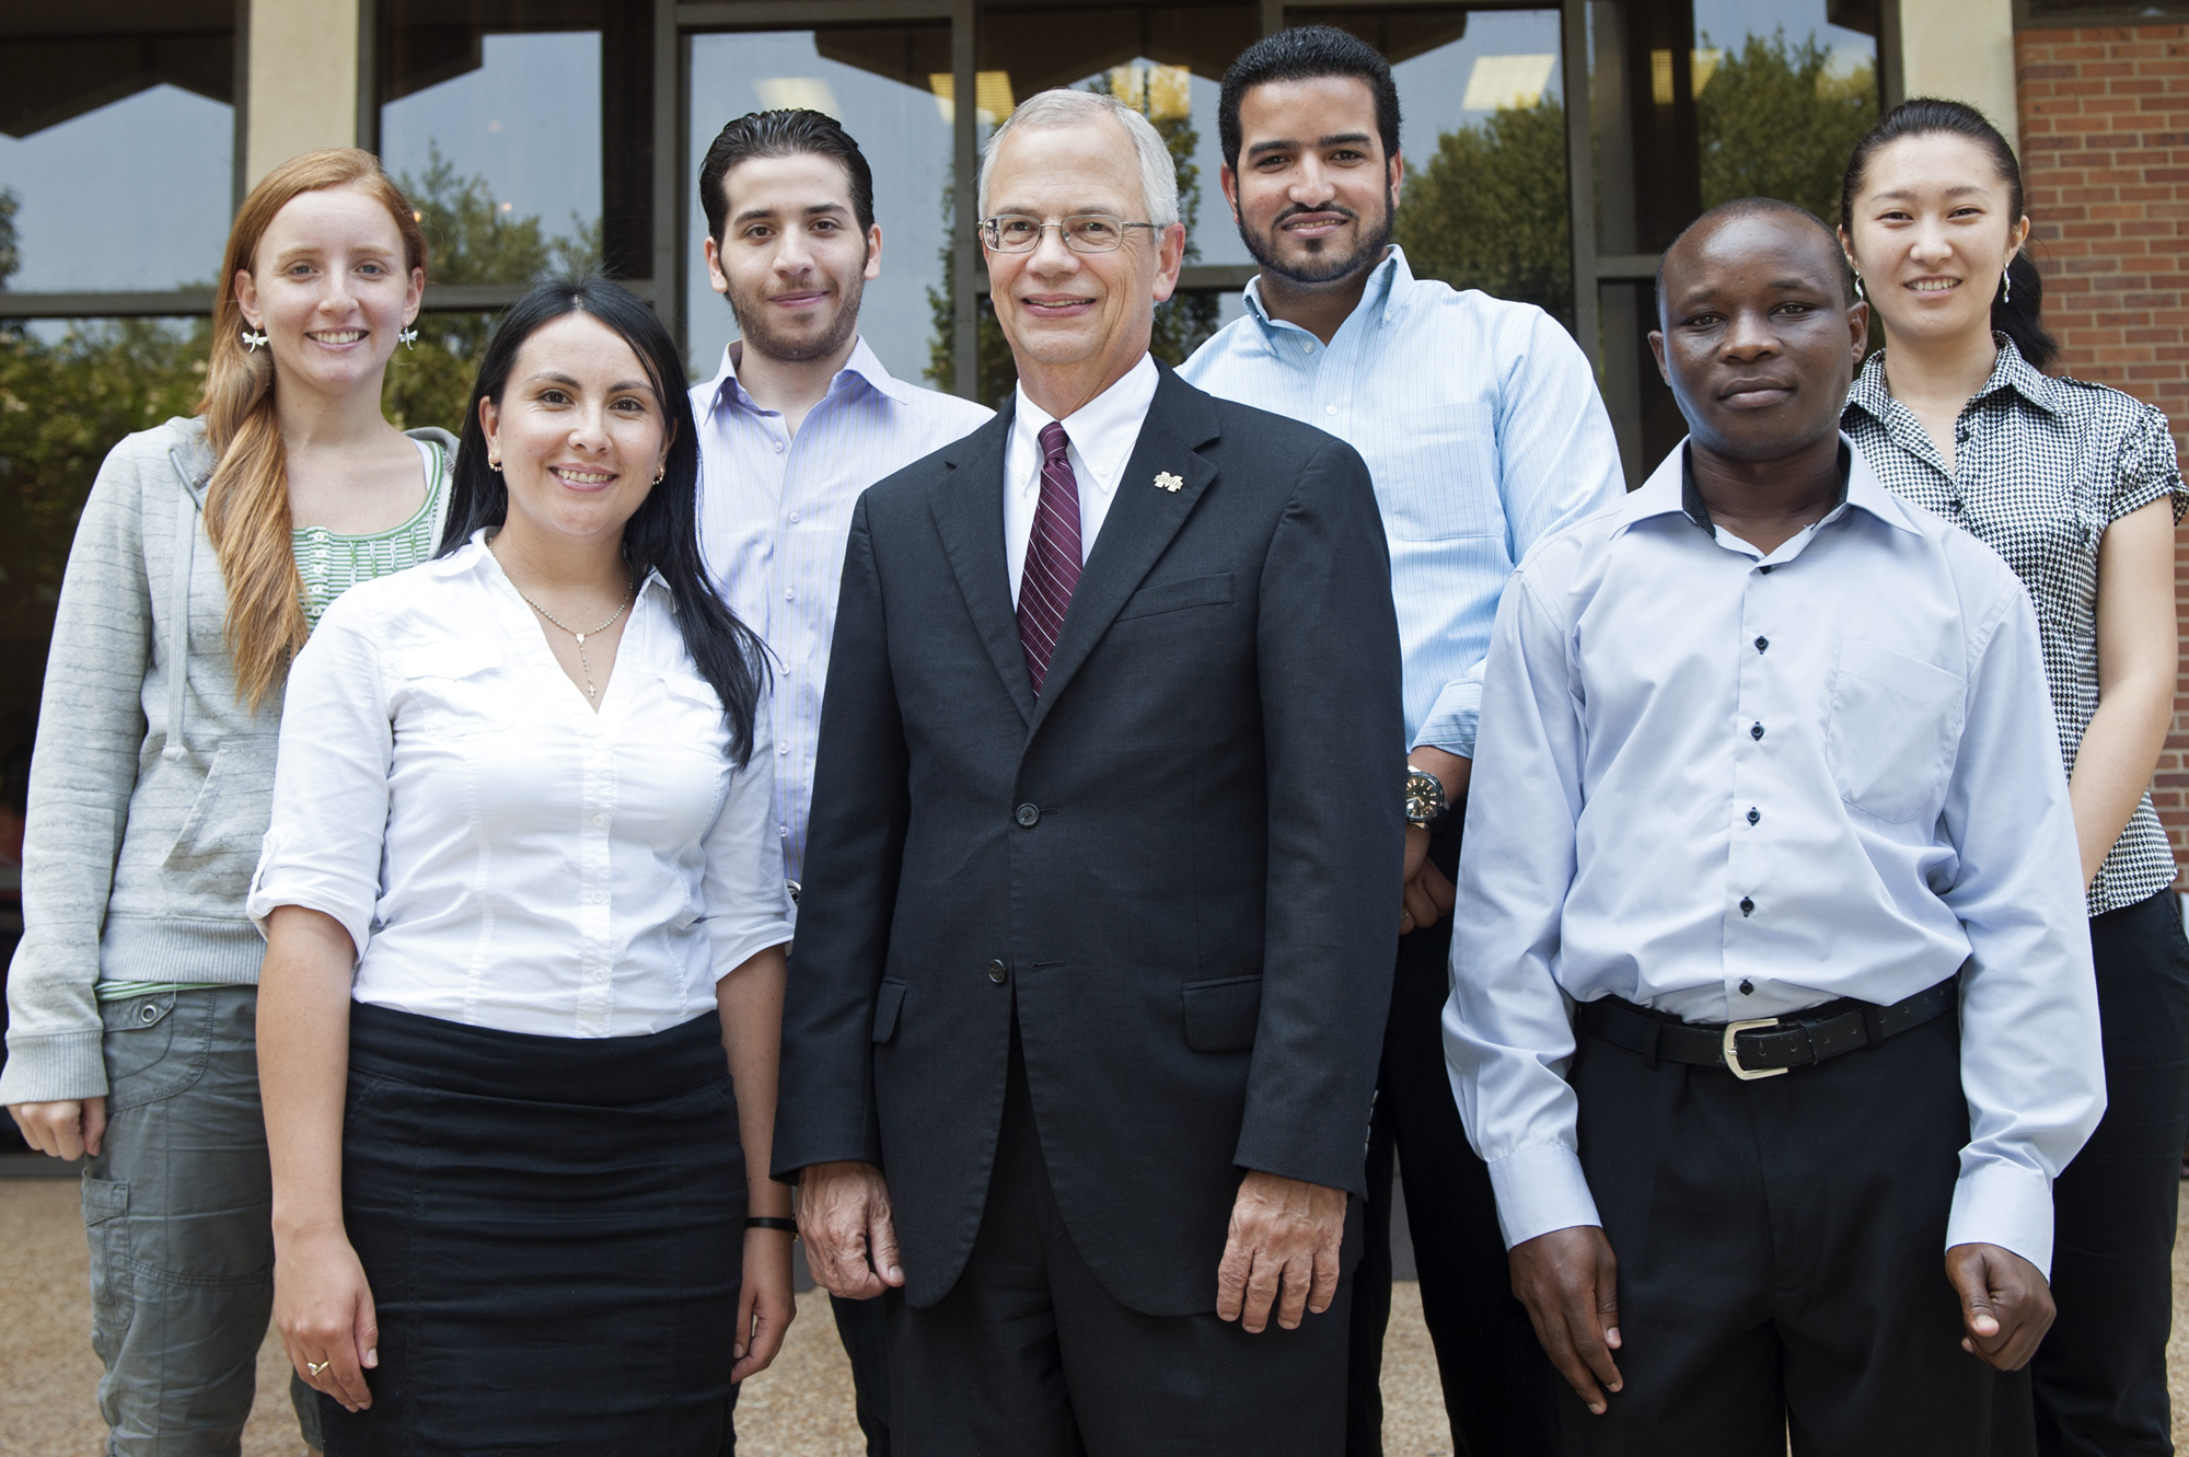
<path id="1" fill-rule="evenodd" d="M 1445 875 L 1460 864 L 1460 807 L 1429 838 Z M 1497 1229 L 1491 1170 L 1467 1142 L 1445 1070 L 1451 917 L 1399 936 L 1368 1131 L 1368 1247 L 1353 1273 L 1346 1457 L 1383 1453 L 1383 1332 L 1390 1326 L 1392 1149 L 1405 1184 L 1421 1315 L 1436 1345 L 1456 1457 L 1548 1457 L 1565 1380 L 1543 1354 Z"/>

